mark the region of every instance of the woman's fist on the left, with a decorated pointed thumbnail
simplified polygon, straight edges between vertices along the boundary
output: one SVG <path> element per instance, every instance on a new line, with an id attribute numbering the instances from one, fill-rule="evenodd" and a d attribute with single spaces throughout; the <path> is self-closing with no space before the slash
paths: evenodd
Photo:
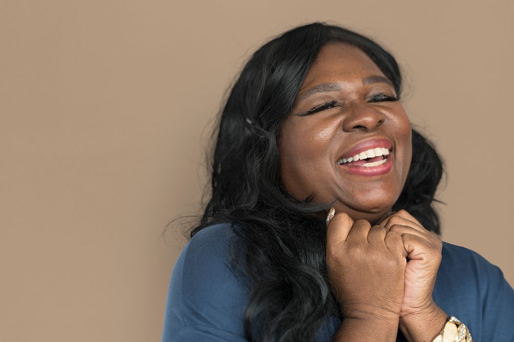
<path id="1" fill-rule="evenodd" d="M 346 319 L 398 328 L 407 253 L 401 235 L 337 213 L 329 221 L 326 264 Z"/>

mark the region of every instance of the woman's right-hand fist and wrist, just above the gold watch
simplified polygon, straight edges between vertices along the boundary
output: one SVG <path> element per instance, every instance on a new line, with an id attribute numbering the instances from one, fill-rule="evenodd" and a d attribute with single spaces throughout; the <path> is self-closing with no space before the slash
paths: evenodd
<path id="1" fill-rule="evenodd" d="M 405 210 L 383 219 L 380 225 L 401 234 L 403 247 L 408 253 L 400 329 L 410 341 L 431 340 L 448 318 L 432 297 L 443 242 Z"/>

